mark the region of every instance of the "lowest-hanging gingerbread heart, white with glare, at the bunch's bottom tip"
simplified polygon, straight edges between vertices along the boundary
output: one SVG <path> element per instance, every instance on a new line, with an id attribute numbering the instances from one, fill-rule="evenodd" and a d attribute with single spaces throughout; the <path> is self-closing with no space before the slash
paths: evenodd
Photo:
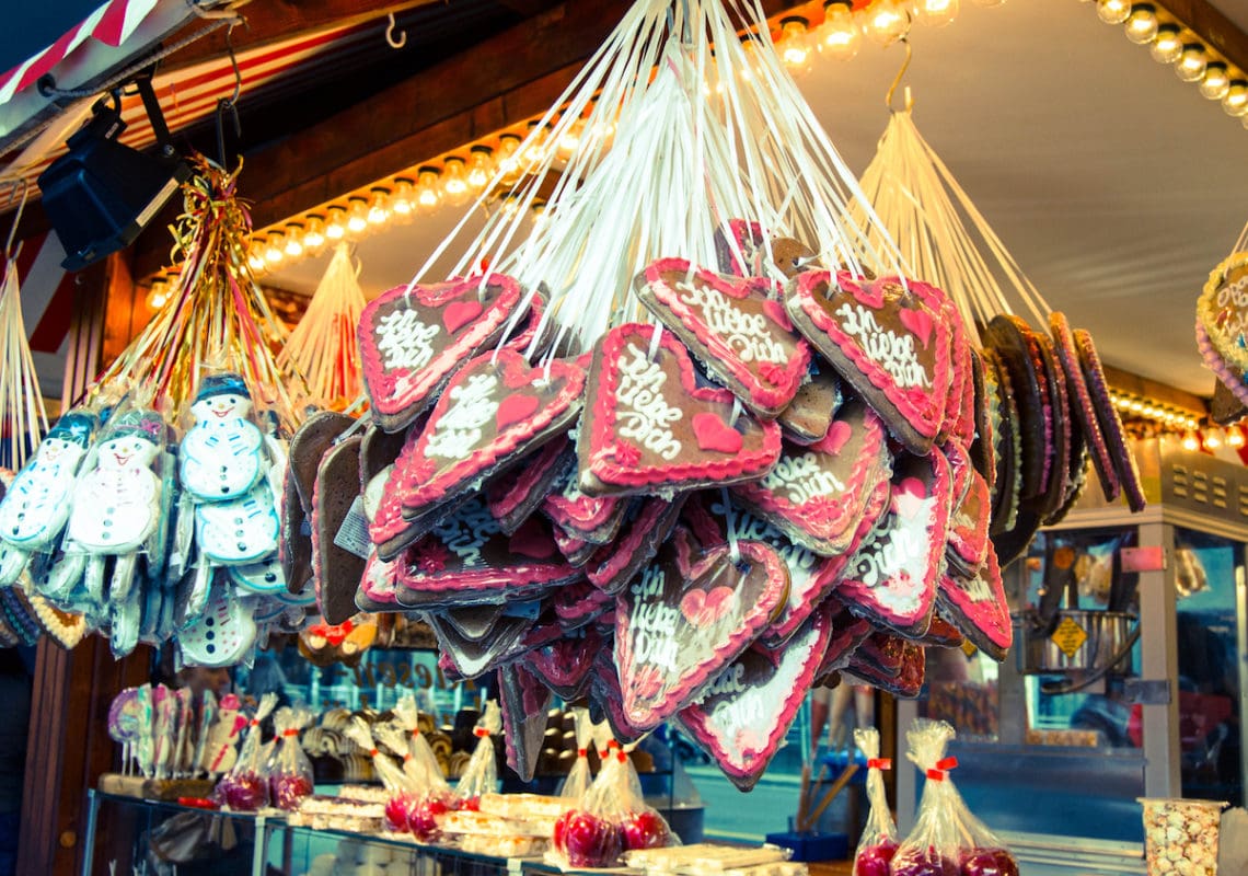
<path id="1" fill-rule="evenodd" d="M 827 649 L 827 610 L 789 639 L 779 663 L 754 649 L 720 673 L 679 720 L 743 791 L 754 787 L 797 716 Z"/>

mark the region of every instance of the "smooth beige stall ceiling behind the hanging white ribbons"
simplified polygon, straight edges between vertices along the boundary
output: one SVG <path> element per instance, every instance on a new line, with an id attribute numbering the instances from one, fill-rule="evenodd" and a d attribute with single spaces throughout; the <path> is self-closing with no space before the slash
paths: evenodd
<path id="1" fill-rule="evenodd" d="M 1248 29 L 1248 0 L 1217 6 Z M 1107 362 L 1208 394 L 1193 304 L 1248 221 L 1248 131 L 1092 4 L 963 0 L 950 27 L 916 27 L 912 44 L 919 129 L 1048 303 L 1090 328 Z M 899 47 L 867 44 L 800 79 L 856 171 L 887 121 L 900 61 Z M 443 208 L 361 242 L 366 292 L 407 282 L 458 218 Z M 271 282 L 311 292 L 324 265 Z"/>

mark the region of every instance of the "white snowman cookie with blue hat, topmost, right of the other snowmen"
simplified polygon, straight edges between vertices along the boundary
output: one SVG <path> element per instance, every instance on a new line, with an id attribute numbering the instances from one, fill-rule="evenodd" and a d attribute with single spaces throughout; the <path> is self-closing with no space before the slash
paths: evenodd
<path id="1" fill-rule="evenodd" d="M 182 489 L 196 502 L 243 497 L 268 467 L 265 438 L 251 418 L 251 393 L 238 374 L 212 374 L 191 404 L 195 426 L 182 439 Z"/>

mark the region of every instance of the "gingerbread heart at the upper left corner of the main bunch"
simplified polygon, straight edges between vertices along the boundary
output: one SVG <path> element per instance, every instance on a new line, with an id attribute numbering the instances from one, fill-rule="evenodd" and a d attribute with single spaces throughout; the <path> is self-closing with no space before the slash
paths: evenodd
<path id="1" fill-rule="evenodd" d="M 520 287 L 500 273 L 397 286 L 359 316 L 357 339 L 373 418 L 396 432 L 432 402 L 464 362 L 500 337 Z"/>

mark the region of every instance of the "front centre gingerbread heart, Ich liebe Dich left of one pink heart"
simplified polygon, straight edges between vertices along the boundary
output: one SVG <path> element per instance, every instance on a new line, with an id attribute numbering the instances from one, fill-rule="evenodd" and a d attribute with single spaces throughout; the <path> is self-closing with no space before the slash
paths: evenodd
<path id="1" fill-rule="evenodd" d="M 638 323 L 612 329 L 590 366 L 578 487 L 590 495 L 661 493 L 763 477 L 780 457 L 780 428 L 738 411 L 734 399 L 698 386 L 673 333 Z M 736 449 L 725 431 L 739 437 Z"/>

